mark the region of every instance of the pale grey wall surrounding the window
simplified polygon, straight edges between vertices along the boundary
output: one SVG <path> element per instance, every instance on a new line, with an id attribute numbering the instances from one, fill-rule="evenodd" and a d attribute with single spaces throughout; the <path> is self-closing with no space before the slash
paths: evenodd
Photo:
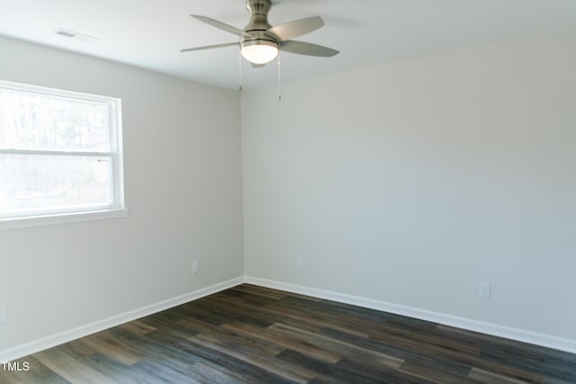
<path id="1" fill-rule="evenodd" d="M 238 93 L 6 38 L 0 52 L 3 80 L 121 98 L 130 209 L 0 231 L 0 355 L 243 275 Z"/>

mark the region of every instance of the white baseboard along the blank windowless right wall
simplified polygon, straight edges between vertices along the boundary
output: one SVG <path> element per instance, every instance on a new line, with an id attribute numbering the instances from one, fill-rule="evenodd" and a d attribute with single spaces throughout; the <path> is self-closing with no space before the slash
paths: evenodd
<path id="1" fill-rule="evenodd" d="M 386 301 L 365 299 L 358 296 L 347 295 L 345 293 L 333 292 L 329 290 L 318 290 L 315 288 L 303 287 L 301 285 L 289 284 L 281 281 L 260 279 L 252 276 L 245 276 L 244 281 L 249 284 L 259 285 L 275 290 L 286 290 L 306 296 L 313 296 L 320 299 L 329 299 L 341 303 L 356 305 L 364 308 L 371 308 L 389 312 L 396 315 L 419 318 L 445 326 L 455 326 L 469 331 L 479 332 L 487 335 L 504 337 L 517 340 L 519 342 L 536 344 L 548 348 L 553 348 L 569 353 L 576 353 L 576 340 L 564 339 L 553 335 L 539 334 L 509 326 L 499 326 L 497 324 L 485 323 L 465 317 L 455 317 L 426 309 L 413 308 L 393 304 Z"/>

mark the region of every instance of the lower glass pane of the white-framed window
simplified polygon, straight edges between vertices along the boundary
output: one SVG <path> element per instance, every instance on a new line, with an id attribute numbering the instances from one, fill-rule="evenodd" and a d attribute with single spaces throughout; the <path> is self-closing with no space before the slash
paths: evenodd
<path id="1" fill-rule="evenodd" d="M 0 216 L 107 206 L 111 166 L 106 156 L 0 154 Z"/>

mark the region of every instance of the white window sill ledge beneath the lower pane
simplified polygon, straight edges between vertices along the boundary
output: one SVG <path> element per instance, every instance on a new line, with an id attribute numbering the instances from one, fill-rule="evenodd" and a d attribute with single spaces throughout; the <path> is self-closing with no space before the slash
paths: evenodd
<path id="1" fill-rule="evenodd" d="M 0 219 L 0 230 L 43 227 L 56 224 L 77 223 L 101 219 L 118 219 L 128 216 L 128 209 L 94 210 L 89 212 L 70 212 L 54 215 L 31 216 L 28 218 Z"/>

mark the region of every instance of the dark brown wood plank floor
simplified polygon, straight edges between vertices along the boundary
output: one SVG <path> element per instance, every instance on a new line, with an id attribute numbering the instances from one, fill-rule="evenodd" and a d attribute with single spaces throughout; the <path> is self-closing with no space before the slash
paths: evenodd
<path id="1" fill-rule="evenodd" d="M 576 383 L 576 354 L 248 284 L 18 362 L 1 383 Z"/>

